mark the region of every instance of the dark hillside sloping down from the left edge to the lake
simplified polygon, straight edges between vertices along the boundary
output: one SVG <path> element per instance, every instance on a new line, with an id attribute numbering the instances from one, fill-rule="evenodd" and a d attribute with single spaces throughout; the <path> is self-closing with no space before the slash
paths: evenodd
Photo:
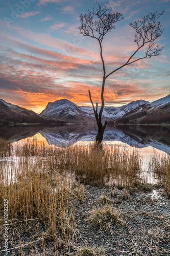
<path id="1" fill-rule="evenodd" d="M 20 106 L 0 99 L 0 123 L 47 123 L 48 121 L 34 111 L 20 108 Z"/>

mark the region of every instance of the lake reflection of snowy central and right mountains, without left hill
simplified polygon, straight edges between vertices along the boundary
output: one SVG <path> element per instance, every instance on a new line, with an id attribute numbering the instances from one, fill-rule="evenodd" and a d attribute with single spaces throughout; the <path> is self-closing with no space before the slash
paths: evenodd
<path id="1" fill-rule="evenodd" d="M 113 126 L 107 126 L 104 133 L 104 141 L 121 141 L 130 146 L 139 148 L 147 147 L 149 145 L 158 148 L 162 151 L 170 152 L 170 132 L 161 133 L 161 127 L 124 127 L 124 130 L 118 129 Z M 94 125 L 71 125 L 62 127 L 46 128 L 40 131 L 40 134 L 46 139 L 48 144 L 61 146 L 62 143 L 66 145 L 74 144 L 77 141 L 91 141 L 94 140 L 96 135 L 96 128 Z"/>

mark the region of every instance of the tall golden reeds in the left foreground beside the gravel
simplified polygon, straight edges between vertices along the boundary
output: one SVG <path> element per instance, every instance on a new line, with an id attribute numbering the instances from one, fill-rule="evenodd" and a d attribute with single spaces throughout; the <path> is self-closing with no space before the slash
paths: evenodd
<path id="1" fill-rule="evenodd" d="M 52 168 L 54 148 L 47 151 L 47 147 L 34 141 L 13 145 L 12 149 L 12 155 L 1 158 L 0 163 L 0 219 L 4 218 L 4 201 L 8 200 L 10 232 L 22 220 L 25 228 L 28 225 L 53 238 L 62 255 L 75 233 L 70 179 L 64 174 L 59 176 L 58 169 Z M 3 224 L 1 221 L 2 235 Z"/>

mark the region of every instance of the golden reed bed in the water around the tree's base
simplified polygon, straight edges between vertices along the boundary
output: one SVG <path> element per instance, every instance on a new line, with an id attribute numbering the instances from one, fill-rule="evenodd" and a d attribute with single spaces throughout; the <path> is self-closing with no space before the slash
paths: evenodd
<path id="1" fill-rule="evenodd" d="M 55 147 L 45 144 L 25 143 L 17 146 L 19 157 L 32 158 L 49 173 L 70 175 L 83 183 L 134 186 L 140 183 L 142 159 L 137 148 L 104 145 L 103 151 L 92 144 Z"/>

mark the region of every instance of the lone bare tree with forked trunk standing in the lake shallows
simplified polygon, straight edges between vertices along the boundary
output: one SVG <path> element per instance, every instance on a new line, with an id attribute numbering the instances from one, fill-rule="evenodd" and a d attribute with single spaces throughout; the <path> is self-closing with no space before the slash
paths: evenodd
<path id="1" fill-rule="evenodd" d="M 95 38 L 96 40 L 98 40 L 100 45 L 100 56 L 103 65 L 103 82 L 101 90 L 102 105 L 99 114 L 98 103 L 96 103 L 96 107 L 94 108 L 90 90 L 88 91 L 95 119 L 98 124 L 98 134 L 96 135 L 97 147 L 102 146 L 103 134 L 107 125 L 107 121 L 105 121 L 104 125 L 102 123 L 102 113 L 104 109 L 104 89 L 106 79 L 114 72 L 122 69 L 127 65 L 130 65 L 131 63 L 136 62 L 139 59 L 146 59 L 151 58 L 152 56 L 160 55 L 163 49 L 159 48 L 159 45 L 155 46 L 155 40 L 160 37 L 163 32 L 163 29 L 161 29 L 162 25 L 160 24 L 160 22 L 157 22 L 157 20 L 164 11 L 162 11 L 161 13 L 151 12 L 140 20 L 129 24 L 132 28 L 135 29 L 134 41 L 137 44 L 137 49 L 122 66 L 115 68 L 112 72 L 107 74 L 105 69 L 105 61 L 102 53 L 103 38 L 108 32 L 111 32 L 111 30 L 115 29 L 116 22 L 124 19 L 122 13 L 112 12 L 112 7 L 108 7 L 107 5 L 108 3 L 100 4 L 98 1 L 96 1 L 96 6 L 94 6 L 91 11 L 87 10 L 87 13 L 80 15 L 81 26 L 79 27 L 80 34 Z M 144 56 L 135 58 L 134 55 L 143 47 L 146 48 Z"/>

